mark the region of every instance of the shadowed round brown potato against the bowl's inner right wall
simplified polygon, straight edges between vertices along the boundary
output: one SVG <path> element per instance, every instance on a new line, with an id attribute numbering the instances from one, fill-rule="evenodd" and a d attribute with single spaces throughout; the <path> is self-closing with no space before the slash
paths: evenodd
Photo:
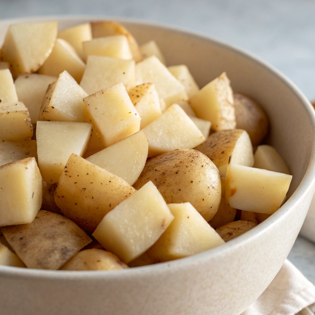
<path id="1" fill-rule="evenodd" d="M 244 129 L 249 134 L 253 146 L 265 138 L 269 123 L 261 106 L 248 96 L 234 93 L 236 128 Z"/>

